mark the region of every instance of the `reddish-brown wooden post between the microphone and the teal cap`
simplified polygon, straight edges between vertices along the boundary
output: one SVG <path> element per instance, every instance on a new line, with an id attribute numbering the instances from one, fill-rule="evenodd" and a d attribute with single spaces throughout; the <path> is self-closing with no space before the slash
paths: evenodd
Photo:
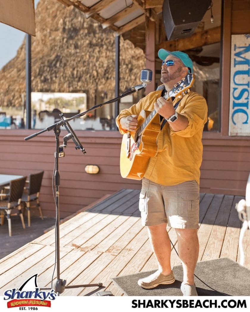
<path id="1" fill-rule="evenodd" d="M 155 22 L 146 18 L 146 68 L 153 71 L 152 82 L 146 87 L 146 95 L 155 91 Z"/>

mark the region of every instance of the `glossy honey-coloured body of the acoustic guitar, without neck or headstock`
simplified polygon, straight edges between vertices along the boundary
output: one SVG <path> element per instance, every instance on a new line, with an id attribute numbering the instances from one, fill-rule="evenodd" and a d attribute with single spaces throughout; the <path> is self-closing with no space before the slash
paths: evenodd
<path id="1" fill-rule="evenodd" d="M 140 112 L 138 128 L 150 113 L 146 110 Z M 150 158 L 158 152 L 157 138 L 160 131 L 160 116 L 156 114 L 139 136 L 136 136 L 136 132 L 123 134 L 120 155 L 120 171 L 123 178 L 134 180 L 143 178 Z"/>

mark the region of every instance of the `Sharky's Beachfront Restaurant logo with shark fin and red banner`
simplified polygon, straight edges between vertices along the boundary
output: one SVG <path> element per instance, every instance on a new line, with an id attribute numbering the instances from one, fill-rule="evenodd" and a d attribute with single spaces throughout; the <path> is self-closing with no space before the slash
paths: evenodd
<path id="1" fill-rule="evenodd" d="M 53 289 L 50 291 L 40 291 L 37 286 L 37 274 L 28 278 L 19 289 L 12 288 L 4 292 L 3 300 L 7 302 L 8 308 L 23 306 L 42 306 L 50 307 L 49 300 L 56 299 L 56 293 Z"/>

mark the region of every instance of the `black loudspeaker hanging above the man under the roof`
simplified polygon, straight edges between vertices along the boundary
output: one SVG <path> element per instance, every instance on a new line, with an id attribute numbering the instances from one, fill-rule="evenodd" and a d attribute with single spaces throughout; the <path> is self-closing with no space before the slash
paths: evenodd
<path id="1" fill-rule="evenodd" d="M 192 35 L 210 5 L 211 0 L 164 0 L 162 13 L 168 40 Z"/>

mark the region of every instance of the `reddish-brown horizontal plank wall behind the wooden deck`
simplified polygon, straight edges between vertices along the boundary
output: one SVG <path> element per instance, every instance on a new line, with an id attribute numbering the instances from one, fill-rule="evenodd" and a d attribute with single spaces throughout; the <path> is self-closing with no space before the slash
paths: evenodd
<path id="1" fill-rule="evenodd" d="M 0 173 L 29 175 L 44 170 L 41 202 L 46 216 L 55 215 L 52 195 L 55 139 L 53 132 L 43 133 L 29 141 L 24 137 L 33 130 L 0 130 Z M 65 131 L 61 134 L 61 143 Z M 69 143 L 66 157 L 59 159 L 61 175 L 60 217 L 87 206 L 121 188 L 141 188 L 141 181 L 120 176 L 120 144 L 118 131 L 77 131 L 87 150 L 83 155 Z M 200 191 L 245 195 L 250 172 L 249 139 L 228 139 L 219 134 L 204 133 Z M 87 164 L 97 164 L 98 174 L 87 174 Z"/>

